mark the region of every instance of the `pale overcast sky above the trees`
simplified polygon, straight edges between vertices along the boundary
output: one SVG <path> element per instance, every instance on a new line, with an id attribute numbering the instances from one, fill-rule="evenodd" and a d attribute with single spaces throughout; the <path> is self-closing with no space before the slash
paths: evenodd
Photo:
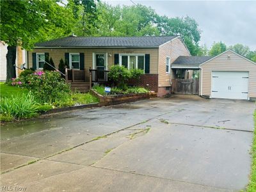
<path id="1" fill-rule="evenodd" d="M 109 4 L 132 5 L 131 1 L 104 0 Z M 256 50 L 256 1 L 141 1 L 159 15 L 193 17 L 202 30 L 201 44 L 244 44 Z"/>

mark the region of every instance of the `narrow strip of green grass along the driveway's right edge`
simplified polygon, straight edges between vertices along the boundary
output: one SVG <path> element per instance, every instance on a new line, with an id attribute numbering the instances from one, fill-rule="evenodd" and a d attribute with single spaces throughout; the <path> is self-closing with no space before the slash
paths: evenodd
<path id="1" fill-rule="evenodd" d="M 256 110 L 254 112 L 254 132 L 252 143 L 252 170 L 250 175 L 250 182 L 246 188 L 247 192 L 256 191 Z"/>

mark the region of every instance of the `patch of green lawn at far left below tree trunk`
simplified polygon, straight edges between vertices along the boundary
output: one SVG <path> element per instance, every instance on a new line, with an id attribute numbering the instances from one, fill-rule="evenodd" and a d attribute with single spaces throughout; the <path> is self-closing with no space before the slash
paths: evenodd
<path id="1" fill-rule="evenodd" d="M 28 93 L 28 90 L 24 88 L 19 88 L 15 86 L 10 86 L 5 83 L 0 83 L 0 97 L 10 97 L 11 95 L 22 95 L 23 93 Z"/>

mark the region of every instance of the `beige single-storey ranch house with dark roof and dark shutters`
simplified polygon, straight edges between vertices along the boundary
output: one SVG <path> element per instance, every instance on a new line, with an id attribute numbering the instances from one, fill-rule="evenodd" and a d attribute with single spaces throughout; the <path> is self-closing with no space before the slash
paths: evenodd
<path id="1" fill-rule="evenodd" d="M 28 52 L 28 67 L 41 70 L 45 56 L 52 58 L 56 68 L 62 58 L 74 70 L 84 70 L 85 81 L 89 81 L 89 69 L 109 70 L 112 65 L 141 68 L 145 74 L 136 83 L 163 96 L 171 90 L 171 63 L 190 53 L 179 36 L 68 36 L 36 44 Z M 103 76 L 106 79 L 107 75 Z"/>

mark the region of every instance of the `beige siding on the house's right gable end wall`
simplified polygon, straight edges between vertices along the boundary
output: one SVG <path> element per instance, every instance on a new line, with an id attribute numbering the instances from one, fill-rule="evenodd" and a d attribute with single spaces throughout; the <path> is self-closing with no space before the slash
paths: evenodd
<path id="1" fill-rule="evenodd" d="M 190 54 L 180 38 L 175 38 L 159 47 L 159 86 L 170 86 L 170 82 L 173 77 L 172 70 L 170 74 L 166 73 L 166 57 L 168 56 L 170 57 L 172 63 L 179 56 L 190 56 Z"/>

